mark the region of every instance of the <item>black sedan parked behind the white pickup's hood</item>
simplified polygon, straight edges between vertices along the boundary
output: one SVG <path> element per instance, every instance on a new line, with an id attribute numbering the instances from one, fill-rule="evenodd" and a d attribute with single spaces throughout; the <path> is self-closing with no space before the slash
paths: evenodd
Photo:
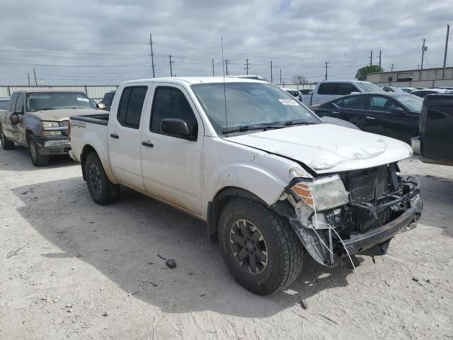
<path id="1" fill-rule="evenodd" d="M 410 94 L 351 94 L 312 108 L 326 115 L 348 120 L 360 130 L 396 138 L 411 145 L 418 136 L 418 120 L 423 100 Z"/>

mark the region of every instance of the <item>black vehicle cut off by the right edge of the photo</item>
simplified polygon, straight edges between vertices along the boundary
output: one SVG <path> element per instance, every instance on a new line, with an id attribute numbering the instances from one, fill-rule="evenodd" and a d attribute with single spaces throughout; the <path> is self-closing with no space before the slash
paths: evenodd
<path id="1" fill-rule="evenodd" d="M 423 101 L 420 136 L 412 148 L 425 163 L 453 166 L 453 94 L 430 94 Z"/>

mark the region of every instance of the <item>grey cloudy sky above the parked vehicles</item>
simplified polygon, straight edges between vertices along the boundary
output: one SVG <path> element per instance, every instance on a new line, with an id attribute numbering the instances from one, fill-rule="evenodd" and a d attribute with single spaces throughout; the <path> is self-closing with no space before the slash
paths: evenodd
<path id="1" fill-rule="evenodd" d="M 229 74 L 249 74 L 287 84 L 353 79 L 373 63 L 417 68 L 426 39 L 424 68 L 442 67 L 451 0 L 2 0 L 0 84 L 119 84 L 176 76 L 222 74 L 221 37 Z M 447 64 L 453 66 L 453 33 Z"/>

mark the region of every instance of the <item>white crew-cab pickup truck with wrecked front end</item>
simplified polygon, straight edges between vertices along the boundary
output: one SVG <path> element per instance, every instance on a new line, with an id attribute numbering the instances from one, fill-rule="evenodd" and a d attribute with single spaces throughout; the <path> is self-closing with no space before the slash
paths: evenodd
<path id="1" fill-rule="evenodd" d="M 411 147 L 323 123 L 264 81 L 127 81 L 110 114 L 70 118 L 71 157 L 96 203 L 120 185 L 205 220 L 232 276 L 253 293 L 286 288 L 307 251 L 325 266 L 383 255 L 415 226 Z"/>

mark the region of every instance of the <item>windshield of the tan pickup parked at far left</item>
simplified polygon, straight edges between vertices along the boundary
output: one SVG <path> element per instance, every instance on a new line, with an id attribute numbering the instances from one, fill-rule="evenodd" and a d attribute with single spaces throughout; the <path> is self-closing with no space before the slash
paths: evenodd
<path id="1" fill-rule="evenodd" d="M 27 94 L 27 111 L 58 110 L 62 108 L 96 108 L 82 92 L 33 92 Z"/>

